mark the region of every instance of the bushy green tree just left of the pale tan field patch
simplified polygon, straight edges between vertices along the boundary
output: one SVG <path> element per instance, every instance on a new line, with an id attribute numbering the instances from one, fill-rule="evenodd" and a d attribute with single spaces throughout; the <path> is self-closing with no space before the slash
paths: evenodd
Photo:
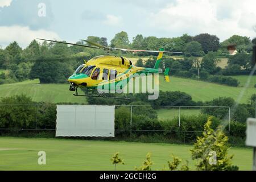
<path id="1" fill-rule="evenodd" d="M 216 73 L 219 68 L 217 68 L 217 63 L 220 61 L 218 59 L 217 52 L 208 52 L 202 59 L 201 69 L 204 69 L 210 74 Z"/>

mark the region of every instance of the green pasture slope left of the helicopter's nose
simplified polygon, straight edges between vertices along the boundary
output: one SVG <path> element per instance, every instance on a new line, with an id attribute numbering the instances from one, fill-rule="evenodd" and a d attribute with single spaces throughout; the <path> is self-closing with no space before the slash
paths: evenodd
<path id="1" fill-rule="evenodd" d="M 75 97 L 69 91 L 68 84 L 39 84 L 39 80 L 27 80 L 14 84 L 0 85 L 0 97 L 26 94 L 33 101 L 44 102 L 72 102 L 86 104 L 85 97 Z"/>

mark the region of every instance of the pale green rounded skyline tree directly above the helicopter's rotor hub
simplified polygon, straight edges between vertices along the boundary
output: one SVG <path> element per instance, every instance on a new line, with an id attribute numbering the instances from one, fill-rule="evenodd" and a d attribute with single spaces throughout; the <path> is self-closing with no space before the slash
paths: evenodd
<path id="1" fill-rule="evenodd" d="M 110 42 L 111 42 L 111 47 L 128 48 L 129 47 L 128 34 L 125 31 L 121 31 L 115 34 L 114 38 Z"/>

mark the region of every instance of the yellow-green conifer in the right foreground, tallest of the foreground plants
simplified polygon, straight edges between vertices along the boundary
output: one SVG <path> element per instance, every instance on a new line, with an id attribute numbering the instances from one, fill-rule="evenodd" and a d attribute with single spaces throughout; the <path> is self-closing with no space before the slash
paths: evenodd
<path id="1" fill-rule="evenodd" d="M 211 128 L 212 117 L 204 125 L 202 137 L 197 137 L 193 146 L 192 159 L 197 159 L 196 168 L 199 171 L 230 171 L 238 170 L 231 165 L 233 155 L 228 155 L 229 143 L 221 126 L 216 131 Z"/>

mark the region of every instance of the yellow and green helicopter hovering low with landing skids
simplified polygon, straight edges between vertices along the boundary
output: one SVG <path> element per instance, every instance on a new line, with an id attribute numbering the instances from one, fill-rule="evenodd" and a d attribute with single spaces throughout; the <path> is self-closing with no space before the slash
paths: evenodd
<path id="1" fill-rule="evenodd" d="M 89 90 L 97 90 L 99 86 L 102 88 L 109 88 L 110 90 L 114 87 L 112 85 L 117 85 L 118 82 L 131 79 L 135 74 L 148 75 L 148 74 L 163 74 L 164 80 L 170 82 L 169 72 L 170 68 L 160 69 L 159 65 L 162 61 L 163 53 L 182 53 L 182 52 L 173 52 L 173 51 L 164 51 L 164 48 L 160 48 L 159 51 L 152 50 L 136 50 L 136 49 L 126 49 L 126 48 L 113 48 L 102 46 L 101 44 L 90 42 L 88 40 L 82 40 L 92 46 L 84 45 L 84 44 L 75 44 L 75 43 L 67 43 L 60 42 L 56 40 L 48 40 L 48 39 L 39 39 L 48 42 L 55 43 L 63 43 L 69 44 L 73 46 L 81 46 L 88 48 L 96 48 L 96 49 L 104 49 L 108 53 L 110 51 L 129 51 L 129 52 L 155 52 L 158 53 L 158 57 L 156 59 L 156 63 L 154 68 L 144 68 L 137 67 L 133 65 L 133 63 L 127 59 L 127 57 L 123 56 L 114 56 L 114 55 L 101 55 L 93 57 L 89 59 L 84 64 L 80 65 L 76 71 L 68 78 L 69 81 L 69 90 L 73 93 L 74 96 L 87 96 L 87 97 L 105 97 L 105 98 L 121 98 L 121 97 L 108 97 L 105 96 L 104 92 L 101 92 L 97 96 L 94 95 L 86 95 L 79 94 L 77 88 L 87 88 Z M 129 99 L 125 97 L 124 99 Z"/>

